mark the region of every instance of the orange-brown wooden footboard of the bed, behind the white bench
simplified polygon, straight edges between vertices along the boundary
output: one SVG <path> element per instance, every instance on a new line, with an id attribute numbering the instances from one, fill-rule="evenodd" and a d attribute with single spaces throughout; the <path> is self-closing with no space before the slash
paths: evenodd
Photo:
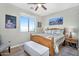
<path id="1" fill-rule="evenodd" d="M 51 38 L 51 40 L 49 40 L 40 35 L 31 35 L 31 40 L 48 47 L 49 51 L 50 51 L 50 55 L 51 56 L 54 55 L 54 41 L 52 38 Z"/>

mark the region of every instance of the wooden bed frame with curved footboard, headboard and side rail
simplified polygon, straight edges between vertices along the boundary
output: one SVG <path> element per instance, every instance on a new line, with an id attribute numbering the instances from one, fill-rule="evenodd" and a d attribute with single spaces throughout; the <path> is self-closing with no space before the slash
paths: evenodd
<path id="1" fill-rule="evenodd" d="M 64 30 L 63 34 L 65 34 L 65 28 L 47 28 L 47 30 Z M 48 47 L 50 56 L 54 56 L 54 38 L 50 40 L 40 35 L 31 35 L 31 40 Z M 61 49 L 59 48 L 59 55 L 60 53 Z"/>

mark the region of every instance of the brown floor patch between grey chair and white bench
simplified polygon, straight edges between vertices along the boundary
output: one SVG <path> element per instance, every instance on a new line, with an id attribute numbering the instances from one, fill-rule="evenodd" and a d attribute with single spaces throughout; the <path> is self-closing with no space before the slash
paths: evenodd
<path id="1" fill-rule="evenodd" d="M 28 54 L 24 52 L 23 46 L 12 48 L 10 53 L 8 51 L 3 51 L 1 55 L 2 56 L 28 56 Z"/>

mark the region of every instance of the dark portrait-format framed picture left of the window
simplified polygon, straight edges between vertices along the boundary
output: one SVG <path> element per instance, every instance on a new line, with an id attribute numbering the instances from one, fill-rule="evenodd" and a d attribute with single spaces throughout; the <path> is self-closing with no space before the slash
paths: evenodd
<path id="1" fill-rule="evenodd" d="M 16 28 L 16 16 L 5 15 L 5 28 Z"/>

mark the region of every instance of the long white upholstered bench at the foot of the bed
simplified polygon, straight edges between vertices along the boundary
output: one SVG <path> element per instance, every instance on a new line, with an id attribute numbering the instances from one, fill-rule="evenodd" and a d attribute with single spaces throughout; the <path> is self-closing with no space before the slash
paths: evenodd
<path id="1" fill-rule="evenodd" d="M 36 42 L 29 41 L 24 44 L 24 50 L 31 56 L 49 56 L 49 48 Z"/>

